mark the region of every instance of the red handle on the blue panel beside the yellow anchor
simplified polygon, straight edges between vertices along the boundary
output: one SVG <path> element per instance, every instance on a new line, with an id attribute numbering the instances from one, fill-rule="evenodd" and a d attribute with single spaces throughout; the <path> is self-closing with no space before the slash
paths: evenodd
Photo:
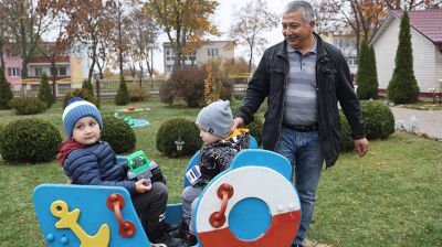
<path id="1" fill-rule="evenodd" d="M 131 237 L 135 234 L 135 224 L 129 221 L 124 221 L 122 215 L 122 208 L 125 205 L 124 197 L 120 194 L 110 194 L 107 197 L 106 205 L 110 211 L 114 211 L 115 217 L 118 222 L 118 233 L 123 237 Z"/>

